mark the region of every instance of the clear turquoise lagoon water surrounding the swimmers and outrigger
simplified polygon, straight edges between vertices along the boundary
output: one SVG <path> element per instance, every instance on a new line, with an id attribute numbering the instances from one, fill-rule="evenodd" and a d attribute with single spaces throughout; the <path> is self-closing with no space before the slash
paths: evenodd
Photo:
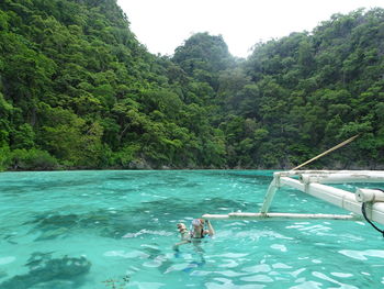
<path id="1" fill-rule="evenodd" d="M 213 221 L 172 251 L 176 224 L 258 211 L 272 171 L 0 175 L 0 289 L 381 288 L 384 240 L 363 222 Z M 353 189 L 346 186 L 347 189 Z M 293 189 L 274 212 L 342 213 Z"/>

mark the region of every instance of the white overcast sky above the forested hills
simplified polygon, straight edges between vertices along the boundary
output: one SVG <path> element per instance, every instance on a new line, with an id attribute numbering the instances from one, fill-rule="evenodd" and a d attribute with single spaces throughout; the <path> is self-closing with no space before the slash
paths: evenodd
<path id="1" fill-rule="evenodd" d="M 172 55 L 192 34 L 222 34 L 234 56 L 258 42 L 310 32 L 335 13 L 384 8 L 384 0 L 117 0 L 148 51 Z"/>

